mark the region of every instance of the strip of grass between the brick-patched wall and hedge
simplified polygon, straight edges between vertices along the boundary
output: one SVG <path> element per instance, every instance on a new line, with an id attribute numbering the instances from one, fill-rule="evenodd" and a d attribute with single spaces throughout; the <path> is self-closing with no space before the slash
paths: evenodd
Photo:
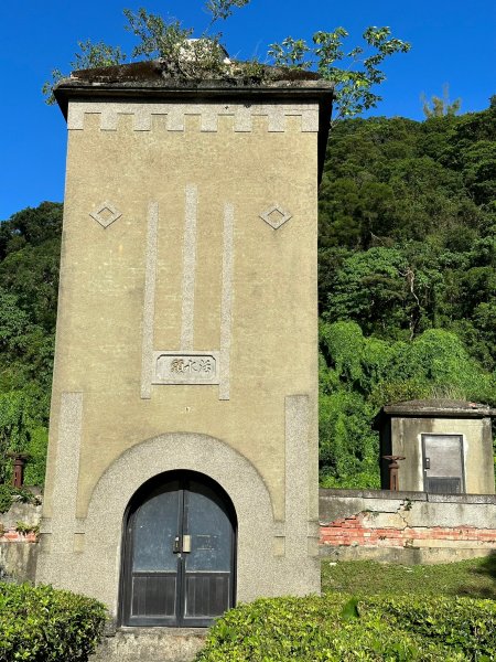
<path id="1" fill-rule="evenodd" d="M 496 554 L 440 565 L 397 565 L 373 560 L 322 562 L 322 591 L 359 597 L 470 596 L 496 599 Z"/>

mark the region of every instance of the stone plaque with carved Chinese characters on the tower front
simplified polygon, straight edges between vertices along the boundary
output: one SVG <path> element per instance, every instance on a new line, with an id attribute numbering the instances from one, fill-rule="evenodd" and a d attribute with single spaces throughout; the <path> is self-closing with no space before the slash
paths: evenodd
<path id="1" fill-rule="evenodd" d="M 154 352 L 153 384 L 218 383 L 218 352 Z"/>

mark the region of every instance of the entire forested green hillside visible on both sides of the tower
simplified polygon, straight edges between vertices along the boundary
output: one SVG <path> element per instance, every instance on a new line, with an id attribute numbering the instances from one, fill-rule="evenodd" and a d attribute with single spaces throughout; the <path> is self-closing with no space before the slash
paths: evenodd
<path id="1" fill-rule="evenodd" d="M 460 117 L 337 122 L 320 200 L 321 478 L 378 487 L 371 420 L 425 396 L 496 405 L 496 98 Z M 0 449 L 47 438 L 62 205 L 0 224 Z M 0 482 L 8 478 L 0 461 Z"/>

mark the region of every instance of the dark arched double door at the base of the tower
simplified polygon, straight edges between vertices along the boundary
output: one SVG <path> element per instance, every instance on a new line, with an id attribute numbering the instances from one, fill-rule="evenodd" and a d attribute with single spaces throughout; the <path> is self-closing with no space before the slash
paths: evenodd
<path id="1" fill-rule="evenodd" d="M 236 513 L 218 483 L 170 471 L 131 499 L 123 527 L 121 622 L 207 627 L 235 601 Z"/>

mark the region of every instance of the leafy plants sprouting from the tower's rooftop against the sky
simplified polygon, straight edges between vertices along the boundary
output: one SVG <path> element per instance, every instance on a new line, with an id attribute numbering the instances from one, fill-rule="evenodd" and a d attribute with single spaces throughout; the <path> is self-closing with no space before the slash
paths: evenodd
<path id="1" fill-rule="evenodd" d="M 137 12 L 125 9 L 125 29 L 138 40 L 131 57 L 160 57 L 176 77 L 231 77 L 233 74 L 236 75 L 239 63 L 225 58 L 222 33 L 214 33 L 212 30 L 218 21 L 228 19 L 236 8 L 248 3 L 249 0 L 208 0 L 205 9 L 209 14 L 209 22 L 196 40 L 192 39 L 193 28 L 183 28 L 180 21 L 165 20 L 144 8 Z M 410 50 L 410 44 L 391 36 L 391 30 L 387 26 L 369 26 L 362 36 L 363 44 L 349 50 L 344 47 L 348 38 L 344 28 L 336 28 L 332 32 L 315 32 L 310 44 L 304 39 L 288 36 L 281 43 L 270 44 L 267 62 L 289 68 L 311 68 L 334 83 L 334 122 L 375 108 L 381 97 L 374 90 L 386 79 L 380 68 L 384 61 L 396 53 L 407 53 Z M 127 58 L 119 46 L 110 46 L 104 42 L 78 42 L 78 46 L 79 52 L 71 63 L 74 70 L 117 65 Z M 248 70 L 241 67 L 239 71 L 249 71 L 254 79 L 263 81 L 266 75 L 270 75 L 265 64 L 254 61 L 248 63 Z M 48 104 L 55 102 L 53 87 L 62 77 L 61 71 L 54 70 L 52 81 L 43 86 Z"/>

